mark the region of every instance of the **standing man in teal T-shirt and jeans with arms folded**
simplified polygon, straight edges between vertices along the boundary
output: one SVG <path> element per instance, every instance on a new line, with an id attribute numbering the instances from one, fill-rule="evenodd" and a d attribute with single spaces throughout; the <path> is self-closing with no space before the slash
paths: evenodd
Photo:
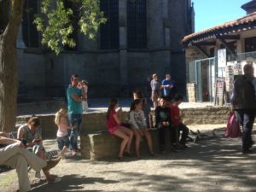
<path id="1" fill-rule="evenodd" d="M 79 151 L 78 137 L 82 123 L 82 102 L 85 100 L 84 87 L 78 88 L 79 76 L 71 76 L 71 85 L 67 88 L 67 108 L 68 120 L 72 127 L 70 133 L 71 154 L 75 155 Z"/>

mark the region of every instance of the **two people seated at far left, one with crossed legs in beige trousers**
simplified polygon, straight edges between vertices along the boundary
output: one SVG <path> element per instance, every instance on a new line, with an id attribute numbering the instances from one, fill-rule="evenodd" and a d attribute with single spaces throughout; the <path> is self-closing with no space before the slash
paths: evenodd
<path id="1" fill-rule="evenodd" d="M 32 116 L 26 125 L 21 125 L 18 129 L 17 139 L 0 132 L 0 165 L 16 168 L 20 192 L 31 191 L 28 166 L 35 170 L 35 177 L 41 178 L 42 170 L 48 183 L 61 182 L 61 177 L 49 173 L 61 157 L 47 159 L 39 125 L 38 117 Z"/>

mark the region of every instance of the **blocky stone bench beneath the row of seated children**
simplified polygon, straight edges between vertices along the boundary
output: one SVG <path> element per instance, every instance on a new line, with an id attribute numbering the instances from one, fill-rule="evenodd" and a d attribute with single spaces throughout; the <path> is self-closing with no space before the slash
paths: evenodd
<path id="1" fill-rule="evenodd" d="M 150 130 L 152 137 L 154 152 L 159 152 L 158 143 L 158 130 Z M 131 144 L 131 152 L 135 154 L 135 137 Z M 80 146 L 81 155 L 83 159 L 89 160 L 108 160 L 116 158 L 119 153 L 119 147 L 122 139 L 109 134 L 107 131 L 99 131 L 92 134 L 81 134 Z M 166 151 L 170 148 L 170 134 L 166 130 Z M 141 154 L 142 156 L 149 155 L 147 140 L 143 137 L 143 143 L 141 143 Z"/>

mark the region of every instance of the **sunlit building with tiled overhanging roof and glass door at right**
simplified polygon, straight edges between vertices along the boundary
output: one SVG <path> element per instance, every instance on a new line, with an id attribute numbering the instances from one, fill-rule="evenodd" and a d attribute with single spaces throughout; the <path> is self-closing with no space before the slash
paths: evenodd
<path id="1" fill-rule="evenodd" d="M 229 102 L 233 81 L 241 71 L 238 68 L 248 61 L 256 65 L 256 0 L 248 1 L 241 9 L 247 15 L 191 33 L 181 42 L 186 52 L 188 83 L 195 84 L 198 102 L 216 102 L 218 95 L 223 95 L 218 91 L 219 79 L 225 81 L 225 100 Z M 195 97 L 194 92 L 188 98 Z"/>

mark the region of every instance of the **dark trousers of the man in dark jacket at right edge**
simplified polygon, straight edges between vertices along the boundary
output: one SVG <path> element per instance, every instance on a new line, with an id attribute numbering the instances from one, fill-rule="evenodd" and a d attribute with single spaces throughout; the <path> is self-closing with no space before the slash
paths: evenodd
<path id="1" fill-rule="evenodd" d="M 235 111 L 236 119 L 239 120 L 242 126 L 242 150 L 247 150 L 252 147 L 252 131 L 255 119 L 254 109 L 239 109 Z"/>

